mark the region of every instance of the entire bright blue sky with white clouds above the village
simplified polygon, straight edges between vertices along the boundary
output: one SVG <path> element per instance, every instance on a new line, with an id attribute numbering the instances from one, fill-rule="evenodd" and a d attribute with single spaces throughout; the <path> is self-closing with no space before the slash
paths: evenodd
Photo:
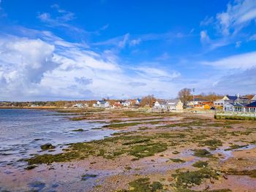
<path id="1" fill-rule="evenodd" d="M 0 101 L 256 93 L 256 0 L 0 0 Z"/>

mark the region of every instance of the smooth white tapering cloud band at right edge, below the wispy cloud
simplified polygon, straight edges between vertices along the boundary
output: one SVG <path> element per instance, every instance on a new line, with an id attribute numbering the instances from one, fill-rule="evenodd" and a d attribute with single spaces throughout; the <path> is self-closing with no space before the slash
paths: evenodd
<path id="1" fill-rule="evenodd" d="M 256 52 L 232 55 L 218 61 L 203 61 L 202 64 L 222 69 L 250 69 L 256 66 Z"/>

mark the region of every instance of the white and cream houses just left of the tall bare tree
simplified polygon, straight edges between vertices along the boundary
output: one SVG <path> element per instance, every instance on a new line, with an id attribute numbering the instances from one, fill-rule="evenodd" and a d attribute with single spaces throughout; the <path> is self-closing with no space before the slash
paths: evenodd
<path id="1" fill-rule="evenodd" d="M 152 110 L 181 111 L 183 103 L 180 99 L 159 99 L 154 102 Z"/>

